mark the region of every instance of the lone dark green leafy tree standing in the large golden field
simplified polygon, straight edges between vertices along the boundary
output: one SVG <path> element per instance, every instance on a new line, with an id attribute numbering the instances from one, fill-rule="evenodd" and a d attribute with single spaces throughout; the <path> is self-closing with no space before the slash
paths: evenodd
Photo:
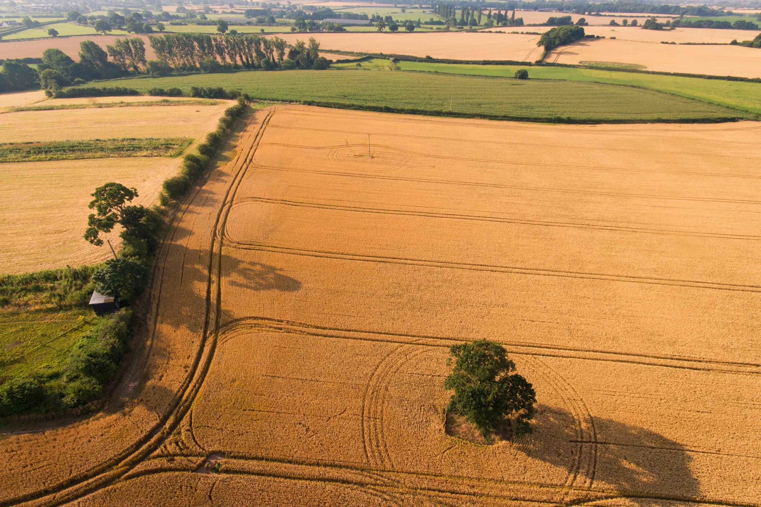
<path id="1" fill-rule="evenodd" d="M 447 410 L 465 416 L 479 432 L 491 439 L 502 423 L 509 423 L 513 436 L 531 433 L 530 421 L 537 396 L 523 376 L 514 373 L 515 363 L 507 350 L 488 340 L 452 345 L 447 366 L 454 367 L 444 388 L 454 391 Z"/>

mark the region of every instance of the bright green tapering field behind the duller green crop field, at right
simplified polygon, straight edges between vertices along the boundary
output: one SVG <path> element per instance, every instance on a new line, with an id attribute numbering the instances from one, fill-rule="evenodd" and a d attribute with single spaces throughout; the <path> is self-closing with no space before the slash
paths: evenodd
<path id="1" fill-rule="evenodd" d="M 380 62 L 386 62 L 381 60 Z M 362 65 L 371 62 L 363 62 Z M 348 65 L 348 64 L 347 64 Z M 510 77 L 526 68 L 533 79 L 566 79 L 607 84 L 626 84 L 674 93 L 681 97 L 743 109 L 761 114 L 761 83 L 721 79 L 682 78 L 638 72 L 598 71 L 590 68 L 521 67 L 519 65 L 450 65 L 444 63 L 398 62 L 403 71 L 430 71 L 452 74 Z"/>

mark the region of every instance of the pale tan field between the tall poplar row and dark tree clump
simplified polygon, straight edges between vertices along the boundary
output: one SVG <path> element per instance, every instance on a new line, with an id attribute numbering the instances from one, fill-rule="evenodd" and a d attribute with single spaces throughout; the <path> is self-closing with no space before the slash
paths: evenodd
<path id="1" fill-rule="evenodd" d="M 528 28 L 527 28 L 528 30 Z M 530 30 L 534 31 L 534 30 Z M 280 35 L 289 44 L 304 40 L 303 33 Z M 533 62 L 542 54 L 538 35 L 504 33 L 314 33 L 320 49 L 383 52 L 463 60 L 517 60 Z"/>

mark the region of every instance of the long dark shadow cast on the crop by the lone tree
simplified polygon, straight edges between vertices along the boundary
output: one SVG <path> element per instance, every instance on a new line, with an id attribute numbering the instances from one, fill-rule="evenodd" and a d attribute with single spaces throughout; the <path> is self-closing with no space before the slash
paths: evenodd
<path id="1" fill-rule="evenodd" d="M 579 476 L 594 477 L 594 489 L 616 490 L 623 496 L 633 495 L 632 502 L 645 504 L 650 504 L 652 498 L 693 499 L 700 493 L 699 480 L 689 467 L 693 458 L 686 448 L 649 429 L 594 417 L 597 438 L 591 432 L 580 438 L 572 414 L 546 405 L 538 406 L 533 427 L 533 435 L 514 442 L 516 448 L 533 458 L 566 467 L 569 474 L 574 474 L 580 464 Z M 568 442 L 576 447 L 574 458 L 568 452 L 559 452 L 569 448 Z M 579 447 L 581 459 L 577 460 Z M 581 482 L 577 480 L 575 485 Z"/>

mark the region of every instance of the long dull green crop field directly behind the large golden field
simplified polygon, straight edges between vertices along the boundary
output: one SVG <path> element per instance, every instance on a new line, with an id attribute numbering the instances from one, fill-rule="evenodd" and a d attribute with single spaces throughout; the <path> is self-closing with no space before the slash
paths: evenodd
<path id="1" fill-rule="evenodd" d="M 240 71 L 122 79 L 100 86 L 117 84 L 142 92 L 152 87 L 179 87 L 186 93 L 193 86 L 224 87 L 256 99 L 504 119 L 689 122 L 750 117 L 722 106 L 635 87 L 422 72 Z"/>

